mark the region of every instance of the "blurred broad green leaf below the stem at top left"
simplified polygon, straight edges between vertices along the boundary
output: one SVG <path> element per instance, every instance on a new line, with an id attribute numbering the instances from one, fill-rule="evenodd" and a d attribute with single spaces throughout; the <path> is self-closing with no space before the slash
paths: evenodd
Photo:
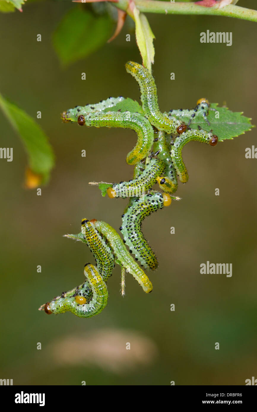
<path id="1" fill-rule="evenodd" d="M 111 35 L 113 23 L 108 14 L 94 16 L 80 7 L 71 9 L 53 34 L 54 49 L 67 66 L 99 49 Z"/>

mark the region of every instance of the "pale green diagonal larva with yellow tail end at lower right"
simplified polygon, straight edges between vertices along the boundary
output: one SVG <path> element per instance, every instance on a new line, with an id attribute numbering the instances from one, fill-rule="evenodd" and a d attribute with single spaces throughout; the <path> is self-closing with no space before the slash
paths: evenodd
<path id="1" fill-rule="evenodd" d="M 108 245 L 113 250 L 113 255 L 116 259 L 115 261 L 122 267 L 125 267 L 127 272 L 134 276 L 134 279 L 138 281 L 139 285 L 146 293 L 151 292 L 153 290 L 152 283 L 137 262 L 134 261 L 124 244 L 125 241 L 122 241 L 116 230 L 102 220 L 92 219 L 91 222 L 94 224 L 97 231 L 108 241 Z"/>

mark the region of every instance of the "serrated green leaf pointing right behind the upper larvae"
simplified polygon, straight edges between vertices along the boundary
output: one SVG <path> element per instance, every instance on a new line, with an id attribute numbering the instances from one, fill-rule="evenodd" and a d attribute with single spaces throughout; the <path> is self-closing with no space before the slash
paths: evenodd
<path id="1" fill-rule="evenodd" d="M 217 117 L 219 112 L 219 118 Z M 215 117 L 216 116 L 216 117 Z M 190 117 L 183 117 L 183 122 L 187 124 L 191 119 L 190 127 L 192 129 L 198 129 L 200 126 L 206 131 L 212 131 L 219 138 L 219 141 L 225 139 L 233 139 L 233 137 L 244 134 L 245 131 L 249 131 L 252 127 L 251 119 L 242 115 L 242 112 L 231 112 L 226 107 L 218 107 L 217 103 L 211 103 L 209 114 L 207 116 L 210 126 L 207 124 L 202 114 L 196 113 L 196 116 L 192 119 Z"/>

